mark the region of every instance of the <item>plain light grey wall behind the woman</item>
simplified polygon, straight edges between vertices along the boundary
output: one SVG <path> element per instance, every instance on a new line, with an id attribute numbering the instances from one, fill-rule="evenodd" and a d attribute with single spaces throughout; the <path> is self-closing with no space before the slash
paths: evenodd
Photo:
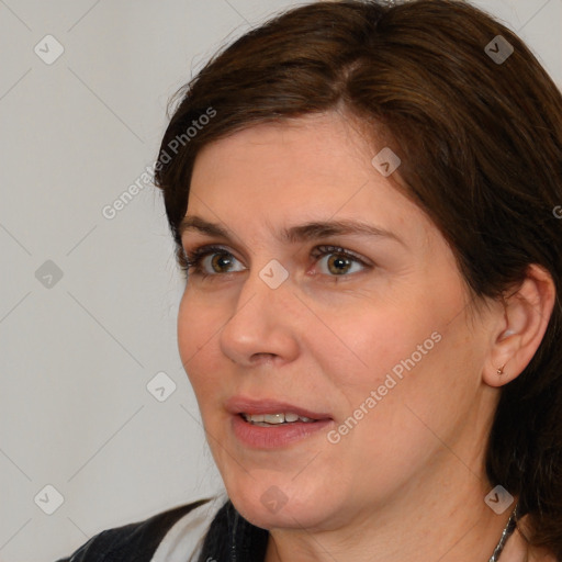
<path id="1" fill-rule="evenodd" d="M 142 175 L 177 88 L 296 3 L 0 0 L 0 561 L 54 560 L 221 487 L 177 351 L 164 205 Z M 562 85 L 562 0 L 475 3 Z M 147 384 L 162 372 L 160 402 Z M 46 485 L 64 497 L 52 515 Z"/>

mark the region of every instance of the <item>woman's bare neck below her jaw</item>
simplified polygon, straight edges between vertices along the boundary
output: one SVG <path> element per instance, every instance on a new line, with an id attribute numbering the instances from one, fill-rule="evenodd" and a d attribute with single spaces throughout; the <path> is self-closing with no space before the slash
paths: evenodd
<path id="1" fill-rule="evenodd" d="M 437 487 L 420 493 L 419 484 L 412 482 L 408 493 L 402 488 L 394 503 L 364 509 L 345 528 L 271 529 L 266 562 L 488 562 L 515 504 L 496 515 L 483 501 L 492 488 L 486 479 L 457 465 L 457 473 L 440 479 Z M 405 505 L 411 494 L 417 501 Z M 521 549 L 510 546 L 509 558 L 520 557 Z M 510 562 L 506 555 L 499 562 Z"/>

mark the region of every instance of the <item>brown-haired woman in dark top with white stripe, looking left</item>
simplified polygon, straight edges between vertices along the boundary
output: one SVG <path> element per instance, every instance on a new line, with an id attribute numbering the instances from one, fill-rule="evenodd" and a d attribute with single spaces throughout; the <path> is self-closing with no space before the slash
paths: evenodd
<path id="1" fill-rule="evenodd" d="M 293 9 L 182 91 L 156 181 L 227 497 L 69 560 L 562 560 L 562 97 L 519 38 Z"/>

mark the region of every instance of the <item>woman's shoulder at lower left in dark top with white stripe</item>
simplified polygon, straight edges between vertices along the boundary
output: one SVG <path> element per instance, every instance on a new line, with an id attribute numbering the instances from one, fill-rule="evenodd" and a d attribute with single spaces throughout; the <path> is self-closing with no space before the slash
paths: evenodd
<path id="1" fill-rule="evenodd" d="M 57 562 L 187 562 L 198 554 L 224 502 L 222 496 L 200 499 L 104 530 Z"/>

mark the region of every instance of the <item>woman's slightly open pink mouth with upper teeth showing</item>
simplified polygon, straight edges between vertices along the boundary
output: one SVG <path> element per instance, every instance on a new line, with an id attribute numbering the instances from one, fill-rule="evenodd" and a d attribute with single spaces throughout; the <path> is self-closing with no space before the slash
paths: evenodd
<path id="1" fill-rule="evenodd" d="M 329 414 L 271 400 L 234 397 L 226 403 L 238 441 L 254 449 L 272 449 L 301 441 L 334 423 Z"/>

